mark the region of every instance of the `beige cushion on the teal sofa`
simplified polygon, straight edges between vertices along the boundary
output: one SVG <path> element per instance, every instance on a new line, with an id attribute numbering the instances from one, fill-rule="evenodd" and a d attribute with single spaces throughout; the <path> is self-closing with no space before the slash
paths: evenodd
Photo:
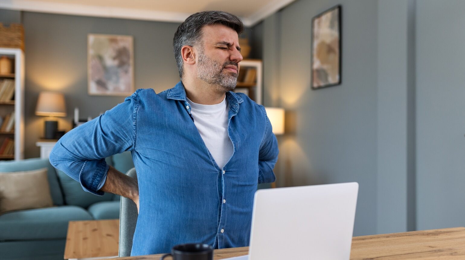
<path id="1" fill-rule="evenodd" d="M 53 206 L 48 169 L 0 172 L 0 214 L 12 210 Z"/>

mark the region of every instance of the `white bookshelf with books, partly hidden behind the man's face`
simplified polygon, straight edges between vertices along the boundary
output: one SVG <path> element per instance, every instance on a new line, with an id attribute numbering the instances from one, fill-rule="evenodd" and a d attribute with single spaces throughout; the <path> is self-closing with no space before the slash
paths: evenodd
<path id="1" fill-rule="evenodd" d="M 243 59 L 234 92 L 245 93 L 257 104 L 262 103 L 262 61 Z"/>

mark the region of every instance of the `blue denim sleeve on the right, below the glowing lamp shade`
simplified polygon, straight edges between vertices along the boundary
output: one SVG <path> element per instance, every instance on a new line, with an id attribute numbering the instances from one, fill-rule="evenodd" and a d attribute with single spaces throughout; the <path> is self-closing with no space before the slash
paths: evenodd
<path id="1" fill-rule="evenodd" d="M 260 105 L 266 117 L 266 130 L 265 136 L 263 137 L 262 143 L 260 144 L 259 151 L 259 180 L 258 183 L 269 183 L 276 180 L 274 176 L 274 165 L 278 161 L 278 141 L 276 136 L 273 134 L 272 126 L 266 111 L 263 106 Z"/>

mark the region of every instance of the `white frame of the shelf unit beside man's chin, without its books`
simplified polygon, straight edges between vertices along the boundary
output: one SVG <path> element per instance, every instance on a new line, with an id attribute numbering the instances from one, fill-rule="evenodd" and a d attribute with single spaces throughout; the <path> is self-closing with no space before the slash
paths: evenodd
<path id="1" fill-rule="evenodd" d="M 241 88 L 248 89 L 249 97 L 257 104 L 262 104 L 262 61 L 261 59 L 244 59 L 240 62 L 240 70 L 246 71 L 248 68 L 256 69 L 255 81 L 252 84 L 244 84 L 238 81 L 237 92 Z"/>

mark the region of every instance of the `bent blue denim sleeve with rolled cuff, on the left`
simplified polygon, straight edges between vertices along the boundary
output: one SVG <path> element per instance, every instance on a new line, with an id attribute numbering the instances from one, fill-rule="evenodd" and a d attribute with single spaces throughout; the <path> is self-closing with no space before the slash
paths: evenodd
<path id="1" fill-rule="evenodd" d="M 103 195 L 97 188 L 109 168 L 105 158 L 135 147 L 138 92 L 61 137 L 50 153 L 50 163 L 84 190 Z"/>

